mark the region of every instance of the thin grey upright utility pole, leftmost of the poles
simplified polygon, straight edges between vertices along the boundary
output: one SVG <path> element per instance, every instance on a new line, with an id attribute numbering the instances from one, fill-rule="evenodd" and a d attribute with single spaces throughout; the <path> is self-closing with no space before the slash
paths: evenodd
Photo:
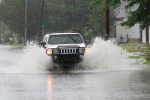
<path id="1" fill-rule="evenodd" d="M 24 46 L 27 44 L 27 0 L 25 0 L 25 29 L 24 29 Z"/>

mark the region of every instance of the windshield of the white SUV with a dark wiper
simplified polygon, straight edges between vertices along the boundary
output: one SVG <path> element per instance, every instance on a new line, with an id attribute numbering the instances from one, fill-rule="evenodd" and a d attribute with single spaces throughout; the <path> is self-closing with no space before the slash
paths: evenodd
<path id="1" fill-rule="evenodd" d="M 79 34 L 52 35 L 49 44 L 81 44 L 82 40 Z"/>

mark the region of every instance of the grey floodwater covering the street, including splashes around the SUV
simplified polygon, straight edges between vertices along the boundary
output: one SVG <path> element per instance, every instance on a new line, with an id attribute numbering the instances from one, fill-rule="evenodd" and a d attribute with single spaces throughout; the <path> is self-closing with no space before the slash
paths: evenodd
<path id="1" fill-rule="evenodd" d="M 0 45 L 0 100 L 150 100 L 149 66 L 97 42 L 82 68 L 67 71 L 49 71 L 51 59 L 38 46 Z"/>

